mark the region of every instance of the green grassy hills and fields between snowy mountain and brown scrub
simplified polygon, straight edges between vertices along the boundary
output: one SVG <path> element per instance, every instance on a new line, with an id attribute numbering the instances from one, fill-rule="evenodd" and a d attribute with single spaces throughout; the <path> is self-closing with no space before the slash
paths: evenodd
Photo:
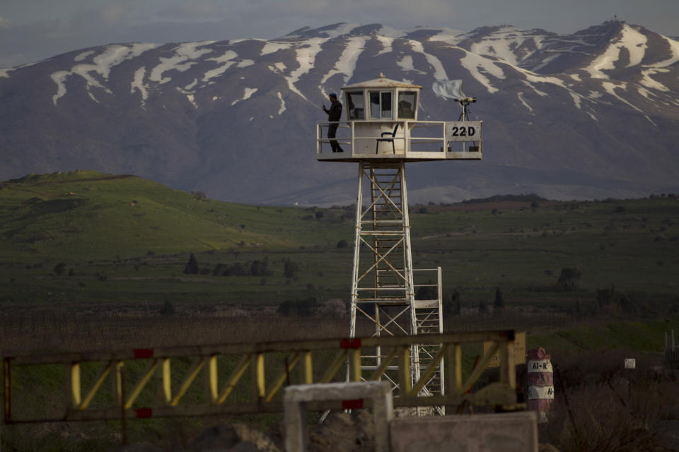
<path id="1" fill-rule="evenodd" d="M 443 268 L 463 307 L 591 310 L 596 291 L 661 309 L 677 302 L 679 199 L 536 201 L 498 197 L 411 206 L 415 268 Z M 79 171 L 0 184 L 0 309 L 186 309 L 342 298 L 351 278 L 354 208 L 212 201 L 131 176 Z M 338 248 L 344 240 L 347 246 Z M 185 266 L 195 254 L 199 273 Z M 218 264 L 267 261 L 267 274 L 215 276 Z M 298 266 L 284 275 L 284 262 Z M 581 277 L 560 291 L 562 268 Z M 212 307 L 212 308 L 210 308 Z"/>

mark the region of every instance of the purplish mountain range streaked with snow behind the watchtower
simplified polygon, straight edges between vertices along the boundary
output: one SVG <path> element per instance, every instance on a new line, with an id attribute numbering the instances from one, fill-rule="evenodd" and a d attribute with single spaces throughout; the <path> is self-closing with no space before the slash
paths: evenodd
<path id="1" fill-rule="evenodd" d="M 382 25 L 274 40 L 109 44 L 0 69 L 0 179 L 98 169 L 250 203 L 354 202 L 356 165 L 315 161 L 327 93 L 422 85 L 419 119 L 456 120 L 463 79 L 484 160 L 408 167 L 411 201 L 679 191 L 679 42 L 609 21 L 572 35 Z"/>

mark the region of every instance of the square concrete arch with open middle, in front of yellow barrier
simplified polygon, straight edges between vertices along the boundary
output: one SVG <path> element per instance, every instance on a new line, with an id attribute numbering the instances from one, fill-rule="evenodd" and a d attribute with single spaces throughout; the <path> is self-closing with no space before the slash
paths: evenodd
<path id="1" fill-rule="evenodd" d="M 389 451 L 389 422 L 393 420 L 391 386 L 386 381 L 316 383 L 287 386 L 283 396 L 286 452 L 306 451 L 305 403 L 323 400 L 370 399 L 375 421 L 375 450 Z"/>

